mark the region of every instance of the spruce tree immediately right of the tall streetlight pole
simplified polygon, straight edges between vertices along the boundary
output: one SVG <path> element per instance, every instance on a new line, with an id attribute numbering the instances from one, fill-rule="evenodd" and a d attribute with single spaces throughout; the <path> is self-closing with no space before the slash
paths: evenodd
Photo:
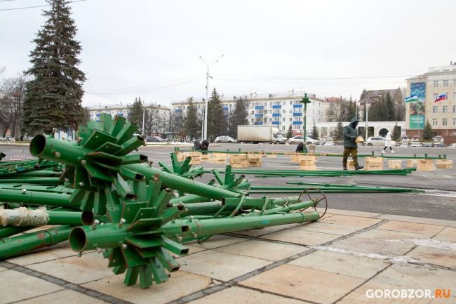
<path id="1" fill-rule="evenodd" d="M 212 91 L 208 102 L 208 138 L 222 136 L 227 132 L 227 121 L 224 117 L 222 102 L 217 91 Z"/>

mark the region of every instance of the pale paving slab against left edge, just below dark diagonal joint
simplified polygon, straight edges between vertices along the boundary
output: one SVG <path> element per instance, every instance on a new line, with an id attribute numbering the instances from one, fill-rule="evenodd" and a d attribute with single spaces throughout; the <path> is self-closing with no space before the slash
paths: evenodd
<path id="1" fill-rule="evenodd" d="M 0 282 L 0 304 L 34 298 L 64 289 L 62 286 L 15 270 L 0 272 Z"/>

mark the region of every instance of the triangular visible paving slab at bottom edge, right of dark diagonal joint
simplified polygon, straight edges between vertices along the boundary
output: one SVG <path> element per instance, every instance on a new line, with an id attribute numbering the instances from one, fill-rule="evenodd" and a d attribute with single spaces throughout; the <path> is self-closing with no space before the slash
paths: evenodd
<path id="1" fill-rule="evenodd" d="M 213 293 L 209 296 L 192 300 L 188 304 L 306 304 L 302 300 L 295 300 L 292 298 L 283 298 L 271 293 L 256 291 L 253 289 L 246 289 L 242 287 L 231 287 Z"/>

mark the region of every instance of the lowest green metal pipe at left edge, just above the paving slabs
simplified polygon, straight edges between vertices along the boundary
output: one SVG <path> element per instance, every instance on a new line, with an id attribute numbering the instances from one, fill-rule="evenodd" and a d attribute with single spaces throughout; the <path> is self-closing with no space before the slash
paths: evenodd
<path id="1" fill-rule="evenodd" d="M 71 230 L 72 227 L 58 227 L 0 239 L 0 260 L 64 242 Z"/>

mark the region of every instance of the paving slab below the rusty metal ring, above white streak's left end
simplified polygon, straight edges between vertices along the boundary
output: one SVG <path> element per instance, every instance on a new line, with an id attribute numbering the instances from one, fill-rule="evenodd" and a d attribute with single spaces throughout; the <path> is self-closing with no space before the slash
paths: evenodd
<path id="1" fill-rule="evenodd" d="M 277 241 L 290 242 L 302 245 L 321 245 L 339 238 L 340 235 L 321 232 L 311 232 L 297 229 L 282 230 L 263 235 L 262 239 L 275 239 Z"/>

